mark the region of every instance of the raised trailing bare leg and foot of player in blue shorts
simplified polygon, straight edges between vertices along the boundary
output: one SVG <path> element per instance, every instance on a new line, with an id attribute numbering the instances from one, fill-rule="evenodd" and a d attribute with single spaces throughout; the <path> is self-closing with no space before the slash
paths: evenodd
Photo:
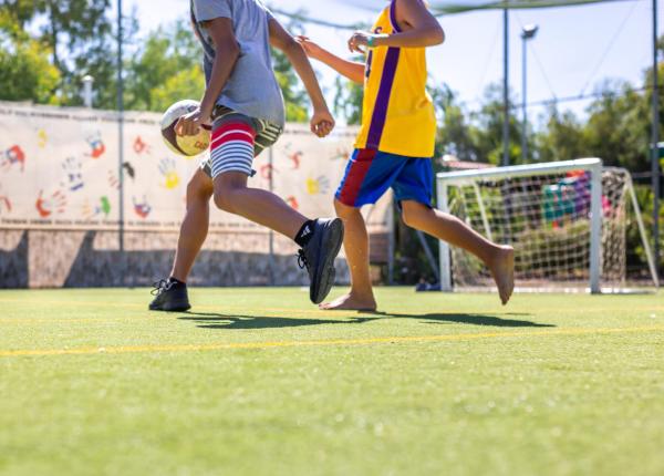
<path id="1" fill-rule="evenodd" d="M 463 248 L 483 260 L 491 271 L 502 304 L 507 304 L 515 289 L 515 250 L 511 246 L 496 245 L 457 217 L 417 201 L 406 200 L 402 206 L 406 225 Z"/>

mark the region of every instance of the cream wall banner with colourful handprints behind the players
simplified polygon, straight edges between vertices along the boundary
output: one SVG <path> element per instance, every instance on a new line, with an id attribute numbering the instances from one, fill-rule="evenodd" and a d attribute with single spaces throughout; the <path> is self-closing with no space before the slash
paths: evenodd
<path id="1" fill-rule="evenodd" d="M 0 287 L 142 286 L 168 273 L 200 157 L 172 153 L 159 120 L 125 114 L 121 159 L 113 112 L 0 102 Z M 355 132 L 338 127 L 319 139 L 307 125 L 289 124 L 255 161 L 250 185 L 273 190 L 307 216 L 332 216 Z M 390 197 L 364 210 L 375 236 L 387 232 L 388 210 Z M 214 207 L 210 215 L 194 282 L 305 282 L 290 240 Z M 347 278 L 343 260 L 340 275 Z"/>

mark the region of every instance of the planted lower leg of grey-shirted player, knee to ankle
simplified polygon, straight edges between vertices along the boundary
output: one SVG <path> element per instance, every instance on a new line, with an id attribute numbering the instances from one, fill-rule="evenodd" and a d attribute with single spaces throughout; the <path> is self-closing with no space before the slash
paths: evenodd
<path id="1" fill-rule="evenodd" d="M 212 196 L 212 180 L 203 170 L 196 170 L 187 185 L 187 213 L 177 239 L 177 251 L 170 276 L 187 282 L 194 261 L 208 232 Z"/>

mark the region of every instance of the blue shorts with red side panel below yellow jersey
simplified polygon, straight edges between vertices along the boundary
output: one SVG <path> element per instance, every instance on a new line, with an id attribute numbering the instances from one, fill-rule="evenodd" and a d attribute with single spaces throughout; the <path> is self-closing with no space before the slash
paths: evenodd
<path id="1" fill-rule="evenodd" d="M 434 167 L 430 158 L 367 148 L 353 152 L 336 199 L 349 207 L 375 204 L 390 187 L 397 203 L 414 200 L 432 206 Z"/>

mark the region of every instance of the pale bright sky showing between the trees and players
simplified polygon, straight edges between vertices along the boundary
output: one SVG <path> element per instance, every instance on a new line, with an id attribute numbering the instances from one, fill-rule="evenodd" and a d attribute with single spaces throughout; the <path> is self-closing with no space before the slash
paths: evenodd
<path id="1" fill-rule="evenodd" d="M 125 0 L 136 8 L 141 35 L 159 24 L 186 18 L 188 0 L 159 0 L 159 8 L 145 0 Z M 270 4 L 269 1 L 266 3 Z M 384 2 L 375 0 L 376 4 Z M 339 23 L 373 23 L 377 12 L 353 7 L 352 0 L 274 0 L 280 10 L 303 10 L 309 17 Z M 664 24 L 660 4 L 658 23 Z M 278 15 L 279 18 L 279 15 Z M 527 65 L 529 102 L 592 93 L 605 79 L 643 83 L 643 71 L 652 64 L 652 1 L 632 0 L 559 9 L 512 10 L 509 13 L 510 87 L 521 101 L 521 27 L 539 25 L 528 42 Z M 444 44 L 427 52 L 429 73 L 446 83 L 469 108 L 476 108 L 489 83 L 502 81 L 502 12 L 481 11 L 444 15 Z M 283 18 L 286 23 L 288 19 Z M 660 34 L 661 34 L 660 30 Z M 331 51 L 350 55 L 345 42 L 349 31 L 307 25 L 307 34 Z M 323 87 L 332 99 L 335 74 L 314 64 Z M 588 101 L 561 104 L 579 115 Z M 537 122 L 543 106 L 529 107 Z"/>

